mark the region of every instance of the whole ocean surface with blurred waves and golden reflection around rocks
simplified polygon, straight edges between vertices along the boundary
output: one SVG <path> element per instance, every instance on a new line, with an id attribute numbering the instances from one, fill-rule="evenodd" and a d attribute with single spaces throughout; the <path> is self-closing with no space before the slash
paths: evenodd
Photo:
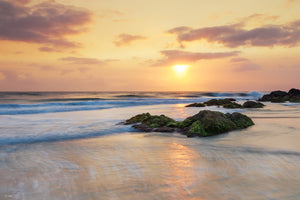
<path id="1" fill-rule="evenodd" d="M 0 92 L 0 199 L 299 199 L 300 103 L 185 107 L 264 92 Z M 255 123 L 208 138 L 120 125 L 201 110 Z"/>

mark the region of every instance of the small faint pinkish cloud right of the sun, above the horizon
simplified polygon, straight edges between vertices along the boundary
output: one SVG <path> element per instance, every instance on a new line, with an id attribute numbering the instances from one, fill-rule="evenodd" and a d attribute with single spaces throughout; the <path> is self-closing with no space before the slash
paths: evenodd
<path id="1" fill-rule="evenodd" d="M 237 72 L 245 72 L 245 71 L 256 71 L 256 70 L 261 70 L 261 66 L 253 63 L 247 58 L 232 58 L 230 60 L 231 63 L 234 65 L 234 71 Z"/>

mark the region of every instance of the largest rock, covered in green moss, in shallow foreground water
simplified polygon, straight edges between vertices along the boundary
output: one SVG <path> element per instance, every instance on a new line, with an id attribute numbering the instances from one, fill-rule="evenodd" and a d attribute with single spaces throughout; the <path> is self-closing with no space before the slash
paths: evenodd
<path id="1" fill-rule="evenodd" d="M 161 121 L 160 121 L 161 120 Z M 203 110 L 183 121 L 175 121 L 165 115 L 143 113 L 125 121 L 142 132 L 181 132 L 188 137 L 207 137 L 228 131 L 247 128 L 253 121 L 241 113 L 224 114 L 217 111 Z"/>

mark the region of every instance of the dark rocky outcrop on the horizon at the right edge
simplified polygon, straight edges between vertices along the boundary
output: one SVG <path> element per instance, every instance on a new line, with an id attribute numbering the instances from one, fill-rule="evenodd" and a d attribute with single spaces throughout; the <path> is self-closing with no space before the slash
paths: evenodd
<path id="1" fill-rule="evenodd" d="M 300 102 L 300 90 L 292 88 L 289 92 L 285 91 L 273 91 L 270 94 L 264 95 L 259 101 L 271 101 L 273 103 L 283 103 L 286 101 Z"/>

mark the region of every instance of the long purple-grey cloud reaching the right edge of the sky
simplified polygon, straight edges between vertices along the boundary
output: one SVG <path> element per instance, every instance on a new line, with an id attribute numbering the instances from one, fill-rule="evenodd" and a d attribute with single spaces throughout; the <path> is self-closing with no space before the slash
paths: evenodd
<path id="1" fill-rule="evenodd" d="M 168 33 L 175 34 L 181 45 L 183 42 L 206 40 L 229 48 L 239 46 L 293 47 L 300 42 L 300 20 L 286 25 L 265 25 L 252 29 L 246 29 L 244 22 L 199 29 L 176 27 Z"/>

